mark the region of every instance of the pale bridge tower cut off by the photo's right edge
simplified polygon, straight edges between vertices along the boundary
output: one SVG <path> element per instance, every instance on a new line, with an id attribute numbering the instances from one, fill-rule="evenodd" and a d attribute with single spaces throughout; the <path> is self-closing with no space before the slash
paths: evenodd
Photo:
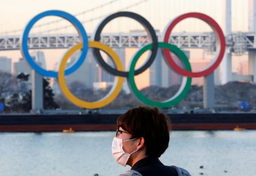
<path id="1" fill-rule="evenodd" d="M 256 32 L 256 0 L 248 0 L 248 32 Z M 256 50 L 248 50 L 248 70 L 256 83 Z"/>

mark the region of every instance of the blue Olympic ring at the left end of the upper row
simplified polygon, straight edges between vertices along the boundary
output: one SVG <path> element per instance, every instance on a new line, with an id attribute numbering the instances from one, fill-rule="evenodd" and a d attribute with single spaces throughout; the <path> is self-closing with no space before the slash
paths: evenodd
<path id="1" fill-rule="evenodd" d="M 54 78 L 58 77 L 58 72 L 48 71 L 48 70 L 45 70 L 44 68 L 39 67 L 39 65 L 36 64 L 36 62 L 30 56 L 29 50 L 27 47 L 29 31 L 31 30 L 33 25 L 39 19 L 41 19 L 45 16 L 59 16 L 59 17 L 65 18 L 66 20 L 68 20 L 69 22 L 71 22 L 74 25 L 74 27 L 78 31 L 80 38 L 83 40 L 83 50 L 82 50 L 80 58 L 77 60 L 77 62 L 74 65 L 72 65 L 72 67 L 65 70 L 65 75 L 69 75 L 72 72 L 74 72 L 75 70 L 77 70 L 83 64 L 84 59 L 86 58 L 88 47 L 89 47 L 88 46 L 88 37 L 87 37 L 86 31 L 85 31 L 83 25 L 78 21 L 78 19 L 76 19 L 74 16 L 72 16 L 69 13 L 66 13 L 66 12 L 63 12 L 60 10 L 49 10 L 49 11 L 39 13 L 34 18 L 32 18 L 24 30 L 24 33 L 22 35 L 22 40 L 20 40 L 22 42 L 21 43 L 21 53 L 23 54 L 23 57 L 26 58 L 28 64 L 32 67 L 32 69 L 35 69 L 35 71 L 38 72 L 39 74 L 41 74 L 43 76 L 47 76 L 47 77 L 54 77 Z"/>

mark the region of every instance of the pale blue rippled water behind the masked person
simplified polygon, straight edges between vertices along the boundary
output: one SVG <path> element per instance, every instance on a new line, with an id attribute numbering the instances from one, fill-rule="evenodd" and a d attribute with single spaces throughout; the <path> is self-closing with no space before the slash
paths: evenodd
<path id="1" fill-rule="evenodd" d="M 113 159 L 114 135 L 0 133 L 0 176 L 117 176 L 130 166 L 122 167 Z M 256 130 L 173 131 L 169 148 L 160 160 L 183 167 L 193 176 L 253 175 Z"/>

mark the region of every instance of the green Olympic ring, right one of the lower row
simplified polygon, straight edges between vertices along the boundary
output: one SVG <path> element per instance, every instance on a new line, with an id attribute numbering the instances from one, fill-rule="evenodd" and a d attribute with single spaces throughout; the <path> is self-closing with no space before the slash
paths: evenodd
<path id="1" fill-rule="evenodd" d="M 181 87 L 179 88 L 178 92 L 174 96 L 172 96 L 170 99 L 167 99 L 166 101 L 157 102 L 157 101 L 152 101 L 151 99 L 148 99 L 145 95 L 142 94 L 142 92 L 140 92 L 137 89 L 137 86 L 136 86 L 135 80 L 134 80 L 134 75 L 135 75 L 134 70 L 135 70 L 135 65 L 136 65 L 137 61 L 139 60 L 140 56 L 147 50 L 151 50 L 152 46 L 153 46 L 152 44 L 148 44 L 148 45 L 142 47 L 142 49 L 140 49 L 137 53 L 135 53 L 135 55 L 132 59 L 132 62 L 130 64 L 128 83 L 129 83 L 130 89 L 133 90 L 133 92 L 137 96 L 137 98 L 140 101 L 142 101 L 144 104 L 150 105 L 150 106 L 157 106 L 158 108 L 168 108 L 168 107 L 178 104 L 188 94 L 188 91 L 190 90 L 192 78 L 183 77 Z M 165 43 L 165 42 L 158 42 L 158 47 L 169 49 L 176 56 L 178 56 L 178 58 L 183 62 L 186 70 L 191 71 L 191 66 L 188 61 L 187 56 L 178 47 L 176 47 L 172 44 L 169 44 L 169 43 Z M 169 65 L 169 67 L 170 67 L 170 65 Z"/>

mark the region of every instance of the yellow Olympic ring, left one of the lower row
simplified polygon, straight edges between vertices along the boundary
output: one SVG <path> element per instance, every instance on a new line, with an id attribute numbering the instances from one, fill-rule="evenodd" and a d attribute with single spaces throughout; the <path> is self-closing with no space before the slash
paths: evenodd
<path id="1" fill-rule="evenodd" d="M 123 65 L 120 60 L 120 58 L 117 56 L 117 54 L 112 50 L 109 46 L 100 43 L 98 41 L 89 41 L 89 47 L 93 48 L 98 48 L 103 50 L 105 53 L 107 53 L 115 62 L 117 70 L 123 71 Z M 68 89 L 65 81 L 65 67 L 68 59 L 70 56 L 76 52 L 77 50 L 80 50 L 83 48 L 83 43 L 78 43 L 75 46 L 73 46 L 71 49 L 68 50 L 68 52 L 65 53 L 61 63 L 60 63 L 60 68 L 59 68 L 59 73 L 58 73 L 58 78 L 59 78 L 59 85 L 60 89 L 64 93 L 64 95 L 77 106 L 80 106 L 82 108 L 88 108 L 88 109 L 96 109 L 96 108 L 101 108 L 103 106 L 106 106 L 107 104 L 111 103 L 119 94 L 120 90 L 122 89 L 122 84 L 123 84 L 123 77 L 117 76 L 114 79 L 114 85 L 110 92 L 104 96 L 104 98 L 95 101 L 95 102 L 87 102 L 83 101 L 76 96 L 74 96 L 70 90 Z"/>

